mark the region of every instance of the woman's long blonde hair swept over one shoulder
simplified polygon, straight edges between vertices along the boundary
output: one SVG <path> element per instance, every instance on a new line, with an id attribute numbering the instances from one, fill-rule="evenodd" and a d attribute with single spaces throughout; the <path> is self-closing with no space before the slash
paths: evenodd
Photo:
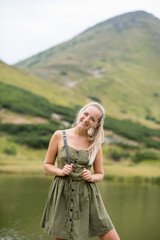
<path id="1" fill-rule="evenodd" d="M 97 102 L 90 102 L 87 105 L 85 105 L 83 108 L 80 109 L 80 111 L 77 113 L 77 116 L 75 118 L 75 121 L 73 123 L 73 127 L 75 127 L 78 124 L 80 115 L 85 111 L 85 109 L 89 106 L 94 106 L 100 112 L 102 115 L 98 119 L 98 126 L 96 128 L 90 128 L 88 130 L 88 140 L 89 140 L 89 165 L 91 165 L 96 157 L 96 154 L 101 146 L 101 143 L 104 141 L 104 130 L 103 130 L 103 124 L 104 124 L 104 117 L 105 117 L 105 110 L 102 107 L 101 104 Z"/>

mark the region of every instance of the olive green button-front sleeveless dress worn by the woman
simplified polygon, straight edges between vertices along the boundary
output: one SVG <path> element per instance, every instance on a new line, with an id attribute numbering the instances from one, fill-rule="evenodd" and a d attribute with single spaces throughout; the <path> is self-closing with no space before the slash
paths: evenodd
<path id="1" fill-rule="evenodd" d="M 68 145 L 67 149 L 72 172 L 53 179 L 40 226 L 54 238 L 87 240 L 110 231 L 114 225 L 96 184 L 82 178 L 83 169 L 88 167 L 88 150 Z M 68 163 L 65 144 L 58 151 L 57 163 L 61 169 Z"/>

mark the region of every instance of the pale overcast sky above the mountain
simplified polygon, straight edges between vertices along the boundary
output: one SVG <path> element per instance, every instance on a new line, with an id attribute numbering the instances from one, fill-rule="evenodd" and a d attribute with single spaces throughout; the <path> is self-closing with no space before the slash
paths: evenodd
<path id="1" fill-rule="evenodd" d="M 160 0 L 0 0 L 0 60 L 15 64 L 138 10 L 160 19 Z"/>

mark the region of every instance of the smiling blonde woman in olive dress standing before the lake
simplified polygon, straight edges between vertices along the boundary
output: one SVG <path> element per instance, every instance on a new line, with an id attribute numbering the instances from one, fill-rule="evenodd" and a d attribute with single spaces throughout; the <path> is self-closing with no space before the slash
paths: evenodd
<path id="1" fill-rule="evenodd" d="M 104 176 L 104 116 L 103 107 L 91 102 L 79 111 L 73 128 L 56 131 L 50 140 L 44 168 L 55 178 L 40 225 L 55 240 L 87 240 L 94 236 L 119 240 L 95 184 Z"/>

